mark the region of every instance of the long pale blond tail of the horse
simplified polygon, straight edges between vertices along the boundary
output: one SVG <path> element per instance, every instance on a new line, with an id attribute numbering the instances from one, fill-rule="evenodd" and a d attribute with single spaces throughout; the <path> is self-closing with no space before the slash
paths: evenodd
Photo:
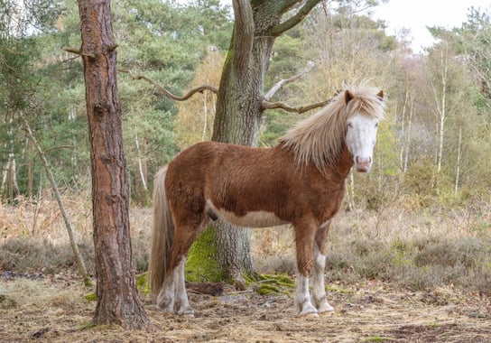
<path id="1" fill-rule="evenodd" d="M 153 234 L 150 255 L 150 289 L 155 299 L 162 288 L 165 275 L 170 271 L 171 247 L 174 240 L 174 223 L 165 191 L 167 166 L 155 175 L 153 181 Z"/>

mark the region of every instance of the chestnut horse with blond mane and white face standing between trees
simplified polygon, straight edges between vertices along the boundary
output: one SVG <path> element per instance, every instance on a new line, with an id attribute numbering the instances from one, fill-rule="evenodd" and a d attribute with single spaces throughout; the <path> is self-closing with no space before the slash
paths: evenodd
<path id="1" fill-rule="evenodd" d="M 334 311 L 324 286 L 326 240 L 351 168 L 369 172 L 384 92 L 340 91 L 271 148 L 203 142 L 156 173 L 150 286 L 162 311 L 193 317 L 184 266 L 190 246 L 212 221 L 294 229 L 296 315 Z M 310 297 L 309 281 L 312 283 Z"/>

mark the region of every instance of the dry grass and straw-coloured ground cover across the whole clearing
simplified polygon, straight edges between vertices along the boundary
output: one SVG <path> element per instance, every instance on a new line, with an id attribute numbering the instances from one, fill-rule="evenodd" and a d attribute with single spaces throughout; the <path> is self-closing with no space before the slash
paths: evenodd
<path id="1" fill-rule="evenodd" d="M 87 194 L 71 199 L 78 200 L 65 203 L 93 271 L 91 203 Z M 0 342 L 491 341 L 490 207 L 341 213 L 329 233 L 331 316 L 298 319 L 291 297 L 227 288 L 220 297 L 190 293 L 198 315 L 189 320 L 155 311 L 142 294 L 156 331 L 128 333 L 88 328 L 95 303 L 83 295 L 94 289 L 77 278 L 55 202 L 0 204 Z M 134 264 L 144 271 L 151 209 L 132 209 L 130 220 Z M 293 246 L 290 227 L 253 231 L 260 272 L 293 273 Z M 29 280 L 32 273 L 44 278 Z"/>

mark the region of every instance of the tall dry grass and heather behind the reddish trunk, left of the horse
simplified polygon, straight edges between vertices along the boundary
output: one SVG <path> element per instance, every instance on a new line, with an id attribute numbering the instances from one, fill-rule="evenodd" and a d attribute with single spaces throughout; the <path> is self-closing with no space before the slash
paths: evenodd
<path id="1" fill-rule="evenodd" d="M 78 200 L 74 200 L 78 199 Z M 94 273 L 91 200 L 88 194 L 64 197 L 64 205 L 75 229 L 79 250 L 89 273 Z M 139 272 L 148 269 L 151 209 L 132 209 L 130 227 L 134 265 Z M 0 272 L 76 273 L 76 261 L 60 210 L 49 193 L 36 203 L 20 199 L 15 206 L 0 202 Z"/>

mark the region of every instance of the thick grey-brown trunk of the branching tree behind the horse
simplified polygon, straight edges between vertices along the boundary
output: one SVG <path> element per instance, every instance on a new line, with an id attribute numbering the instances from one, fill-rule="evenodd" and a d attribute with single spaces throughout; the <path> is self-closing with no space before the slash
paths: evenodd
<path id="1" fill-rule="evenodd" d="M 264 79 L 276 37 L 307 15 L 320 0 L 307 1 L 281 23 L 298 0 L 234 0 L 235 25 L 218 89 L 212 140 L 257 145 L 263 118 Z M 200 244 L 199 240 L 196 243 Z M 218 222 L 215 225 L 217 259 L 236 286 L 244 287 L 242 273 L 252 270 L 250 230 Z"/>

